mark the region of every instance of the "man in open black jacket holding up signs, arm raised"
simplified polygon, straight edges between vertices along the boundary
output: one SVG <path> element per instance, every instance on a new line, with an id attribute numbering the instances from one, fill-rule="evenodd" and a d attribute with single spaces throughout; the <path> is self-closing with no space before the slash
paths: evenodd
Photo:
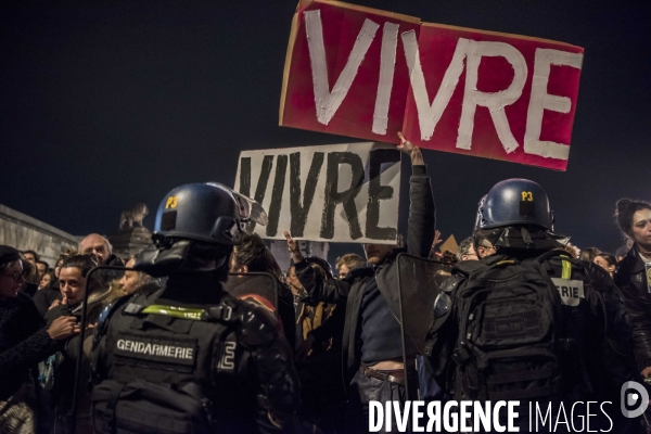
<path id="1" fill-rule="evenodd" d="M 413 166 L 406 251 L 427 257 L 435 229 L 430 177 L 420 150 L 399 136 L 398 150 L 411 157 Z M 350 432 L 366 430 L 370 400 L 404 403 L 406 399 L 395 261 L 404 250 L 395 245 L 367 244 L 367 259 L 372 267 L 350 270 L 343 280 L 324 281 L 303 258 L 297 242 L 288 232 L 285 237 L 296 275 L 310 298 L 346 303 L 342 345 L 344 376 L 346 384 L 349 383 L 346 426 Z M 413 360 L 407 363 L 413 372 Z"/>

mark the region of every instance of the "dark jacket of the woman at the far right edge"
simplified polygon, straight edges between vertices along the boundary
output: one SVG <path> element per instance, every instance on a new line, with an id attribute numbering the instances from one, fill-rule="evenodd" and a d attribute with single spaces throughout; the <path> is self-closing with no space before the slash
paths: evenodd
<path id="1" fill-rule="evenodd" d="M 651 294 L 644 261 L 634 246 L 615 270 L 615 284 L 622 291 L 633 324 L 633 344 L 638 367 L 651 366 Z"/>

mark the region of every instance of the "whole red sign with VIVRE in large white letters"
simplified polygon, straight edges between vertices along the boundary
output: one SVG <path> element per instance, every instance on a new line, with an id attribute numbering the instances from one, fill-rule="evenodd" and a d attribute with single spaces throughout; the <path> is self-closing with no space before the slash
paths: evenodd
<path id="1" fill-rule="evenodd" d="M 303 1 L 280 125 L 564 170 L 583 49 Z"/>

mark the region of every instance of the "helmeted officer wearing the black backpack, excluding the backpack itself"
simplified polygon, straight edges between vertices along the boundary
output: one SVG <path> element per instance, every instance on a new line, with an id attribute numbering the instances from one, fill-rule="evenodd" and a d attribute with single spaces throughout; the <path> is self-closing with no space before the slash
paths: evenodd
<path id="1" fill-rule="evenodd" d="M 478 263 L 460 263 L 454 276 L 444 282 L 443 294 L 435 304 L 434 330 L 427 342 L 432 373 L 441 384 L 454 387 L 449 373 L 454 370 L 452 354 L 456 337 L 446 331 L 443 321 L 451 307 L 457 288 L 463 284 L 474 268 L 494 260 L 515 259 L 537 261 L 551 278 L 561 296 L 564 323 L 557 324 L 565 346 L 564 391 L 565 403 L 611 401 L 604 407 L 610 421 L 600 412 L 596 425 L 612 432 L 635 432 L 618 409 L 618 392 L 625 381 L 633 378 L 630 367 L 630 326 L 618 290 L 605 272 L 588 263 L 574 259 L 562 248 L 567 239 L 553 230 L 553 214 L 545 190 L 527 179 L 508 179 L 494 186 L 480 202 L 475 222 L 475 250 L 483 252 Z M 496 252 L 478 250 L 478 241 L 488 240 Z M 464 269 L 465 268 L 465 269 Z M 450 299 L 451 297 L 451 299 Z M 438 327 L 441 329 L 436 330 Z M 559 348 L 560 349 L 560 348 Z M 449 392 L 449 391 L 448 391 Z M 521 414 L 522 417 L 522 414 Z M 629 431 L 630 430 L 630 431 Z"/>

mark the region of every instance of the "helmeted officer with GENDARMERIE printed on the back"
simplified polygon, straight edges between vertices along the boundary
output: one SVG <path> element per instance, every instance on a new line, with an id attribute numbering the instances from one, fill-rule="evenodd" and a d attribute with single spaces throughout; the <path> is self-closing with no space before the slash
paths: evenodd
<path id="1" fill-rule="evenodd" d="M 135 269 L 168 277 L 102 314 L 93 342 L 93 425 L 101 433 L 292 431 L 299 406 L 277 320 L 224 289 L 232 246 L 261 207 L 218 183 L 179 187 Z"/>

